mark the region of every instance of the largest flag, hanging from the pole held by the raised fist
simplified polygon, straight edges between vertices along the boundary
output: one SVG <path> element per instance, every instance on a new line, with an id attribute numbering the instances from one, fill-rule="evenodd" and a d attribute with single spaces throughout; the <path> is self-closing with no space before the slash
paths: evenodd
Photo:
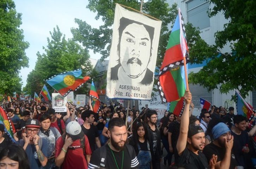
<path id="1" fill-rule="evenodd" d="M 188 45 L 185 28 L 181 12 L 178 10 L 157 83 L 160 97 L 164 103 L 178 100 L 184 96 L 187 88 L 184 58 L 188 63 Z"/>

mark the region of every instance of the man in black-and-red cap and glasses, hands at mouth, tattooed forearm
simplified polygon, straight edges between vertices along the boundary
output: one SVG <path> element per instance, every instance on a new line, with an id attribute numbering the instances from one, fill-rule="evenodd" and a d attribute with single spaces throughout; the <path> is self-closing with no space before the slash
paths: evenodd
<path id="1" fill-rule="evenodd" d="M 47 140 L 37 135 L 39 128 L 40 125 L 37 119 L 28 119 L 22 139 L 16 142 L 26 151 L 31 169 L 44 167 L 48 161 L 46 156 Z"/>

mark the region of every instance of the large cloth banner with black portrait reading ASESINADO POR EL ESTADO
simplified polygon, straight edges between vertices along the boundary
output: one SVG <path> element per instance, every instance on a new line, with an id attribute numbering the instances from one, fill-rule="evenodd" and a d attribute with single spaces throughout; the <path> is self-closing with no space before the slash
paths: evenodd
<path id="1" fill-rule="evenodd" d="M 116 5 L 107 73 L 109 98 L 150 100 L 161 21 Z"/>

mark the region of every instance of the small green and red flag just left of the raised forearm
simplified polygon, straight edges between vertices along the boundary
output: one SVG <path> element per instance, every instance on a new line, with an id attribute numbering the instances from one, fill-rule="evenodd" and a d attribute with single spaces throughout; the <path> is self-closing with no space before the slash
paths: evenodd
<path id="1" fill-rule="evenodd" d="M 184 97 L 181 97 L 178 100 L 170 102 L 169 112 L 172 112 L 176 116 L 181 117 L 184 110 L 185 100 Z"/>

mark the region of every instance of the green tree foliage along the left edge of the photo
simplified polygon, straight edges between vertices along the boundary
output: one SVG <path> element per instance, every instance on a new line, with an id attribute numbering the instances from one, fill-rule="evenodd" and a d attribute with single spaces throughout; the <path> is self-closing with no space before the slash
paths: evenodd
<path id="1" fill-rule="evenodd" d="M 25 50 L 29 43 L 24 41 L 22 14 L 17 13 L 12 0 L 0 1 L 0 94 L 12 96 L 21 92 L 19 71 L 28 67 Z"/>

